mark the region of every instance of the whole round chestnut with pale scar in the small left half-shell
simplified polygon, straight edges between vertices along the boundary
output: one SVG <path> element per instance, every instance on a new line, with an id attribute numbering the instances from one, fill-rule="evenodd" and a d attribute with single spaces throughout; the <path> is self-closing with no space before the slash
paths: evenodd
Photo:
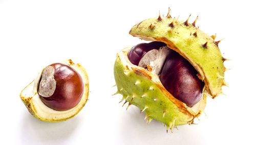
<path id="1" fill-rule="evenodd" d="M 82 77 L 75 69 L 56 63 L 42 72 L 38 95 L 49 108 L 65 111 L 79 103 L 83 89 Z"/>

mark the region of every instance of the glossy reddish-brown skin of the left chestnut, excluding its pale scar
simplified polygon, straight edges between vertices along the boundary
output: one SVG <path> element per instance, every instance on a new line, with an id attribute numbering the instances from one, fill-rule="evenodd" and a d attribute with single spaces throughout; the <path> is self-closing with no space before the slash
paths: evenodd
<path id="1" fill-rule="evenodd" d="M 53 76 L 56 81 L 56 89 L 50 97 L 44 97 L 38 93 L 41 101 L 49 108 L 57 111 L 74 108 L 83 95 L 82 77 L 68 65 L 55 63 L 50 66 L 55 70 Z"/>

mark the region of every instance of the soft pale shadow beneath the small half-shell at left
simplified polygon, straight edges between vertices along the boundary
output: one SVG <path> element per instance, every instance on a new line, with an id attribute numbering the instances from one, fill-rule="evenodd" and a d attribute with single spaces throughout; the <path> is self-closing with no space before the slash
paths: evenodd
<path id="1" fill-rule="evenodd" d="M 36 119 L 28 112 L 24 112 L 23 120 L 20 121 L 20 136 L 22 144 L 58 144 L 65 142 L 72 136 L 81 122 L 79 115 L 61 122 L 45 122 Z"/>

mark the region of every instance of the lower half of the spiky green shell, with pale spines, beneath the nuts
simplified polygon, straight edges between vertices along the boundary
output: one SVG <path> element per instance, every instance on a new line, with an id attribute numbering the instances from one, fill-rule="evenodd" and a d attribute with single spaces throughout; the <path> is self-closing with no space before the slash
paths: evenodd
<path id="1" fill-rule="evenodd" d="M 205 108 L 206 95 L 193 108 L 187 107 L 164 89 L 158 75 L 130 63 L 130 49 L 120 51 L 114 65 L 117 93 L 123 95 L 122 100 L 145 112 L 148 121 L 159 120 L 167 128 L 193 122 Z"/>

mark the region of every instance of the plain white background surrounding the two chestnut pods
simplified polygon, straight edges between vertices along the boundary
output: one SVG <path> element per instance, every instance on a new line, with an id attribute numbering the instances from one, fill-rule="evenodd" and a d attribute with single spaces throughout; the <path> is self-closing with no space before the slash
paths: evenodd
<path id="1" fill-rule="evenodd" d="M 135 24 L 167 14 L 217 33 L 229 88 L 208 97 L 198 125 L 166 133 L 147 125 L 145 114 L 122 108 L 113 66 L 116 53 L 143 41 L 129 35 Z M 255 8 L 252 1 L 3 1 L 0 0 L 0 144 L 255 144 Z M 72 119 L 34 118 L 19 93 L 52 63 L 72 59 L 89 75 L 86 106 Z"/>

